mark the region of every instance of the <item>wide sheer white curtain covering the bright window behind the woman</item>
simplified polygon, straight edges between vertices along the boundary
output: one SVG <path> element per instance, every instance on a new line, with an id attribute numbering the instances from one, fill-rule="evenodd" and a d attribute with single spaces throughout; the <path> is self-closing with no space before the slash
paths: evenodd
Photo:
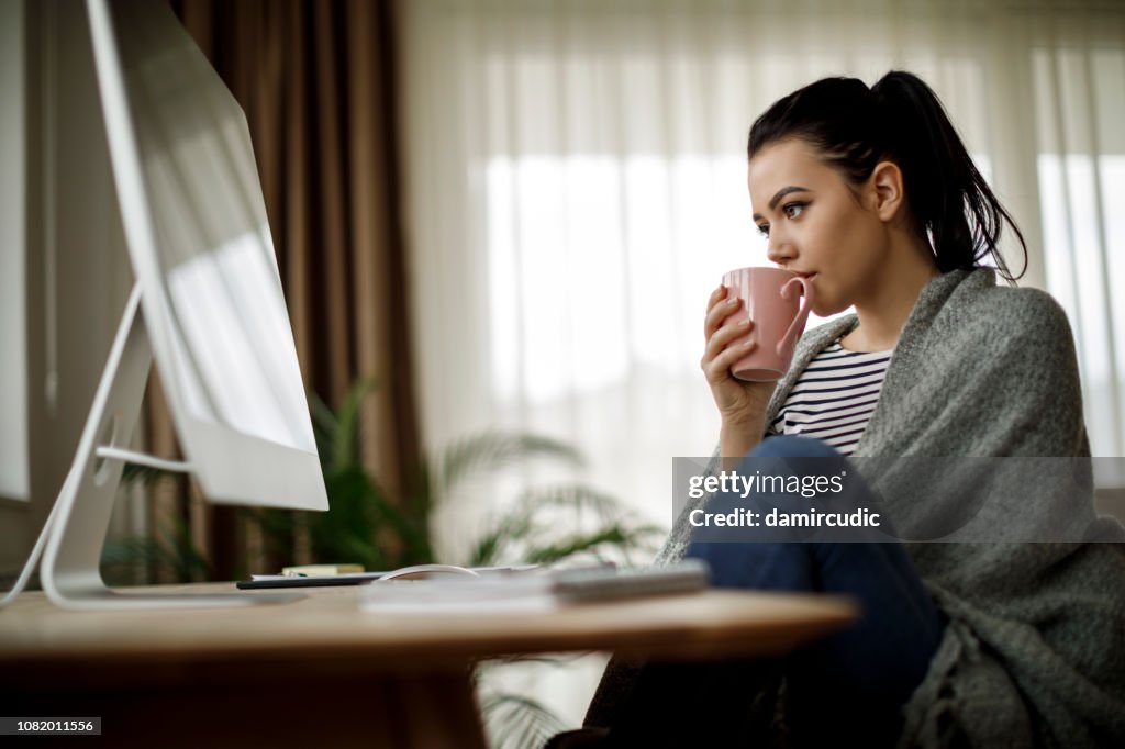
<path id="1" fill-rule="evenodd" d="M 1020 222 L 1023 282 L 1071 315 L 1095 453 L 1125 454 L 1123 3 L 403 6 L 429 445 L 547 432 L 670 523 L 670 458 L 709 454 L 718 435 L 698 366 L 706 297 L 724 270 L 766 263 L 749 124 L 818 78 L 902 67 L 937 90 Z M 447 508 L 447 549 L 494 496 Z M 572 720 L 586 696 L 562 705 Z"/>

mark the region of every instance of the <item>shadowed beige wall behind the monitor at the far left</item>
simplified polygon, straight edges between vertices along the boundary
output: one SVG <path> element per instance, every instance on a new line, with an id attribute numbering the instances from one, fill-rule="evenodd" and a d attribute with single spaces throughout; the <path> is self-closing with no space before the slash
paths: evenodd
<path id="1" fill-rule="evenodd" d="M 11 35 L 4 40 L 16 42 L 2 45 L 3 54 L 12 57 L 3 63 L 18 66 L 20 52 L 24 56 L 22 96 L 16 90 L 18 73 L 3 63 L 0 93 L 4 109 L 22 117 L 26 170 L 22 259 L 12 260 L 8 250 L 4 261 L 21 264 L 25 279 L 20 301 L 26 352 L 20 357 L 17 346 L 9 355 L 6 348 L 4 355 L 6 368 L 22 370 L 26 409 L 19 414 L 17 406 L 11 415 L 11 404 L 0 404 L 0 418 L 24 421 L 27 444 L 29 502 L 0 497 L 0 574 L 11 574 L 30 550 L 73 459 L 132 273 L 109 171 L 84 3 L 0 3 L 0 27 L 6 37 Z M 7 201 L 3 210 L 0 223 L 20 223 Z M 17 245 L 15 254 L 19 252 Z M 14 306 L 16 316 L 19 306 Z M 12 314 L 8 307 L 0 309 L 6 321 Z M 7 377 L 20 379 L 19 372 Z"/>

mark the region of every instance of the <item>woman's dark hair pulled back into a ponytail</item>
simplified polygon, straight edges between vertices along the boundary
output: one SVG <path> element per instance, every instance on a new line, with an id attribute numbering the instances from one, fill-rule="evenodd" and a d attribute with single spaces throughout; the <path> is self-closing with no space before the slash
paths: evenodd
<path id="1" fill-rule="evenodd" d="M 1027 270 L 1027 244 L 1011 215 L 976 170 L 937 94 L 917 75 L 892 71 L 868 89 L 854 78 L 811 83 L 774 103 L 750 128 L 747 154 L 799 137 L 854 184 L 880 161 L 902 171 L 907 204 L 942 272 L 992 259 L 1014 281 Z M 1007 222 L 1024 268 L 1012 276 L 999 251 Z"/>

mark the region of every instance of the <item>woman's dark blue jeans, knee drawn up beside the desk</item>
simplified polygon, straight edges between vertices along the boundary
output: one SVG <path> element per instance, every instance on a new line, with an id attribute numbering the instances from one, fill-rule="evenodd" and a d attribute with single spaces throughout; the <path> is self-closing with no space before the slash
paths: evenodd
<path id="1" fill-rule="evenodd" d="M 771 437 L 750 458 L 846 458 L 818 440 Z M 795 461 L 793 471 L 811 461 Z M 824 461 L 817 463 L 824 472 Z M 862 479 L 843 499 L 875 505 Z M 783 497 L 760 498 L 768 511 Z M 744 502 L 745 504 L 745 502 Z M 688 557 L 705 560 L 712 585 L 756 590 L 806 590 L 843 594 L 856 599 L 861 617 L 850 629 L 776 661 L 647 665 L 632 695 L 614 721 L 611 743 L 658 740 L 660 746 L 740 746 L 763 725 L 749 727 L 752 709 L 765 711 L 759 695 L 784 676 L 786 719 L 794 746 L 855 743 L 893 746 L 901 731 L 900 710 L 921 682 L 945 626 L 899 543 L 693 542 Z M 703 715 L 705 714 L 705 719 Z M 683 719 L 676 718 L 683 715 Z M 659 716 L 659 718 L 655 718 Z M 772 715 L 766 715 L 768 724 Z M 657 721 L 659 728 L 644 723 Z M 675 725 L 680 720 L 686 721 Z M 762 720 L 759 715 L 758 720 Z M 642 728 L 644 725 L 644 728 Z M 701 736 L 704 730 L 706 736 Z"/>

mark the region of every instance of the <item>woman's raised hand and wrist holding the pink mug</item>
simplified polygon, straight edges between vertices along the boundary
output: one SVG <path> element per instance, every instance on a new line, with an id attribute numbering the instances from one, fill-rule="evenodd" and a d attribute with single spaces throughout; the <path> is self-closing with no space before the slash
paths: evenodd
<path id="1" fill-rule="evenodd" d="M 722 327 L 722 322 L 736 313 L 741 304 L 741 299 L 728 294 L 727 287 L 720 286 L 708 299 L 706 318 L 703 322 L 706 348 L 700 367 L 722 418 L 719 443 L 724 458 L 741 458 L 762 440 L 766 406 L 776 386 L 775 382 L 744 382 L 730 373 L 730 368 L 757 346 L 752 341 L 723 351 L 731 341 L 744 337 L 754 330 L 754 321 L 750 319 Z"/>

